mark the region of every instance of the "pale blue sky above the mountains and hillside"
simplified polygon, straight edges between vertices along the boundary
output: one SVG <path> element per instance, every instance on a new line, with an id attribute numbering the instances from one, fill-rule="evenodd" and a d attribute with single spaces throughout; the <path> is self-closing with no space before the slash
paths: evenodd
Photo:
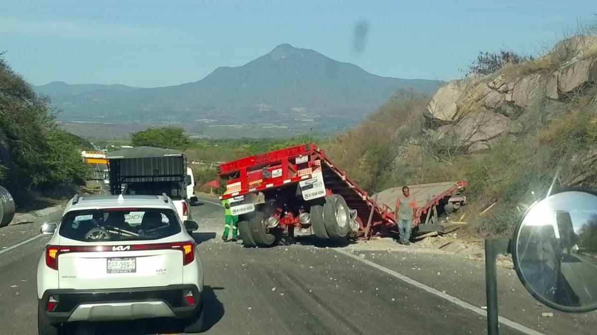
<path id="1" fill-rule="evenodd" d="M 381 76 L 449 80 L 480 50 L 547 51 L 589 1 L 0 0 L 0 51 L 33 85 L 193 82 L 289 43 Z"/>

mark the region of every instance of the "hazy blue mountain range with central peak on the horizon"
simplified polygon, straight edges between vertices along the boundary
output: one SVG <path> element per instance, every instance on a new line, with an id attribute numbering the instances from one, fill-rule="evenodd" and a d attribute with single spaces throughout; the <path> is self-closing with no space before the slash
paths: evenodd
<path id="1" fill-rule="evenodd" d="M 432 93 L 438 80 L 381 77 L 290 44 L 244 66 L 219 67 L 196 82 L 159 88 L 125 85 L 35 86 L 61 120 L 180 123 L 195 134 L 229 129 L 343 129 L 401 88 Z"/>

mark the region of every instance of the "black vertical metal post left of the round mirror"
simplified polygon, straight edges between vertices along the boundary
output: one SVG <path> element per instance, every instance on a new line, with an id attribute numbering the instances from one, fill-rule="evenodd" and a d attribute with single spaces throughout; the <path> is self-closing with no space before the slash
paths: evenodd
<path id="1" fill-rule="evenodd" d="M 485 240 L 485 294 L 487 296 L 487 333 L 497 335 L 497 266 L 495 240 Z"/>

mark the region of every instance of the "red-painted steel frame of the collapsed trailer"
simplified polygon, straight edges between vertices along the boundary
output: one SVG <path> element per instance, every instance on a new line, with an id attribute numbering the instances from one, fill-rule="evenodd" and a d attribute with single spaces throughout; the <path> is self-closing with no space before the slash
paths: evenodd
<path id="1" fill-rule="evenodd" d="M 294 160 L 301 156 L 307 156 L 307 161 L 300 165 L 294 163 Z M 226 182 L 227 185 L 238 183 L 240 185 L 238 190 L 224 194 L 220 199 L 295 184 L 303 179 L 311 178 L 312 174 L 307 172 L 309 172 L 309 169 L 318 169 L 319 166 L 321 166 L 324 175 L 327 194 L 340 194 L 344 197 L 350 209 L 357 210 L 356 221 L 359 224 L 359 232 L 365 231 L 372 208 L 374 212 L 370 229 L 373 234 L 380 231 L 380 229 L 395 226 L 396 219 L 393 208 L 386 206 L 386 204 L 375 203 L 366 191 L 362 190 L 355 181 L 346 175 L 346 172 L 338 169 L 334 162 L 325 156 L 325 150 L 319 149 L 313 143 L 269 151 L 221 164 L 218 171 L 220 178 L 229 179 Z M 266 168 L 269 173 L 281 169 L 282 173 L 276 177 L 263 179 L 263 168 Z M 299 174 L 299 171 L 307 172 Z M 418 207 L 415 218 L 416 224 L 420 221 L 421 215 L 426 214 L 432 206 L 439 204 L 439 200 L 465 185 L 466 181 L 459 181 Z M 285 219 L 282 218 L 282 220 Z M 288 222 L 284 222 L 284 224 L 299 225 L 297 218 L 294 217 L 288 218 Z"/>

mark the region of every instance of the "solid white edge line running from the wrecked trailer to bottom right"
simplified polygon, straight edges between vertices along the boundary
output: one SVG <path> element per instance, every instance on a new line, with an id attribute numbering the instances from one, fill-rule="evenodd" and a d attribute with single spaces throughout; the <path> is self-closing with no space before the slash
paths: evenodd
<path id="1" fill-rule="evenodd" d="M 469 311 L 475 312 L 476 314 L 481 315 L 482 317 L 487 317 L 487 311 L 478 308 L 477 306 L 473 306 L 470 305 L 470 303 L 464 302 L 463 300 L 458 299 L 457 297 L 453 297 L 450 294 L 438 291 L 436 289 L 433 289 L 433 287 L 427 286 L 423 283 L 419 283 L 418 281 L 407 277 L 399 272 L 390 270 L 384 266 L 381 266 L 377 263 L 371 262 L 371 260 L 367 260 L 367 259 L 362 259 L 359 256 L 353 255 L 350 252 L 347 252 L 346 250 L 341 250 L 341 249 L 334 249 L 334 251 L 341 253 L 342 255 L 346 255 L 350 258 L 356 259 L 359 262 L 363 262 L 369 266 L 373 266 L 373 268 L 378 269 L 381 272 L 385 272 L 386 274 L 391 275 L 392 277 L 396 277 L 399 280 L 405 281 L 408 284 L 411 284 L 413 286 L 418 287 L 421 290 L 427 291 L 431 294 L 434 294 L 435 296 L 441 297 L 442 299 L 448 300 L 449 302 L 455 303 L 456 305 L 464 308 L 464 309 L 468 309 Z M 512 320 L 509 320 L 507 318 L 504 317 L 498 317 L 498 320 L 500 321 L 501 324 L 507 325 L 508 327 L 514 328 L 515 330 L 521 331 L 522 333 L 528 334 L 528 335 L 543 335 L 543 333 L 539 333 L 536 330 L 533 330 L 531 328 L 525 327 L 522 324 L 519 324 L 517 322 L 514 322 Z"/>

